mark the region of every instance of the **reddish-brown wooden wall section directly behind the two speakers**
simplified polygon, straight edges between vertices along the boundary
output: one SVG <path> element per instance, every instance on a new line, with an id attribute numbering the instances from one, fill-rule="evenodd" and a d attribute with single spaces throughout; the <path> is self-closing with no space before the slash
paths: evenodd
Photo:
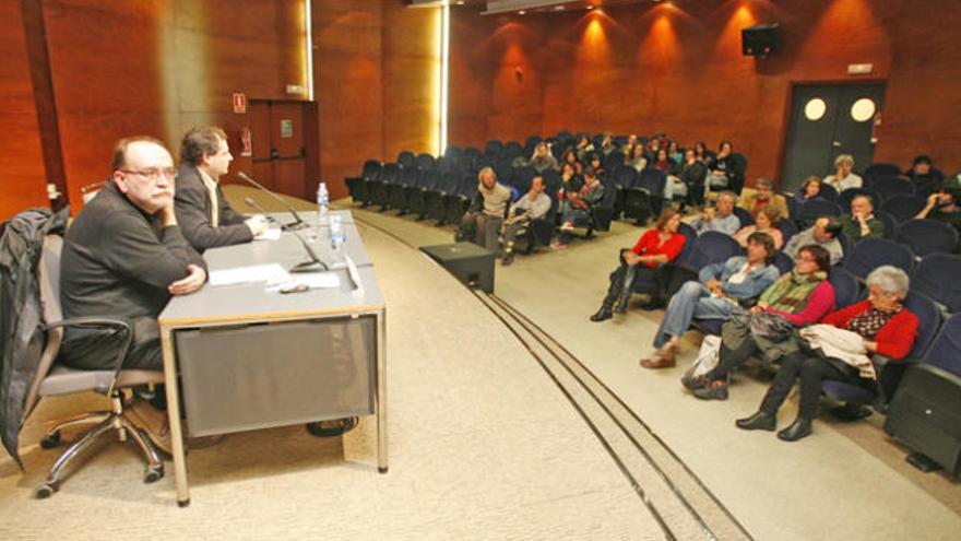
<path id="1" fill-rule="evenodd" d="M 45 13 L 74 211 L 122 137 L 158 137 L 177 158 L 182 133 L 210 124 L 236 151 L 249 119 L 233 113 L 233 92 L 306 98 L 285 93 L 307 86 L 299 0 L 47 0 Z"/>

